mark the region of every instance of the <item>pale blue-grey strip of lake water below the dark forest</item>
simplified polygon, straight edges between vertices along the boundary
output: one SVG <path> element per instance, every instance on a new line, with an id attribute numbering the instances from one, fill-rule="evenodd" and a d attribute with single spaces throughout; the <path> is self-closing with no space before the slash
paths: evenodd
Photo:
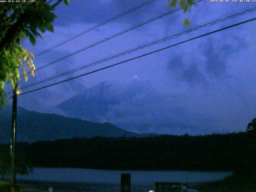
<path id="1" fill-rule="evenodd" d="M 121 173 L 131 174 L 131 183 L 136 185 L 154 182 L 210 182 L 222 180 L 231 172 L 196 172 L 162 170 L 97 170 L 82 168 L 34 168 L 28 176 L 17 176 L 18 180 L 81 182 L 94 184 L 120 184 Z"/>

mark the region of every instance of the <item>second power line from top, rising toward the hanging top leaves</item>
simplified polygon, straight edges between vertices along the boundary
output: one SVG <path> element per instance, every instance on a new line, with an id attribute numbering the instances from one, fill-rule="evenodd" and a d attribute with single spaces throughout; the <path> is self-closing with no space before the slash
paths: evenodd
<path id="1" fill-rule="evenodd" d="M 197 0 L 196 3 L 200 2 L 200 1 L 202 1 L 202 0 Z M 132 26 L 132 27 L 126 29 L 126 30 L 123 30 L 123 31 L 118 32 L 118 33 L 116 33 L 116 34 L 114 34 L 114 35 L 111 35 L 111 36 L 109 36 L 109 37 L 107 37 L 107 38 L 104 38 L 103 40 L 100 40 L 100 41 L 98 41 L 98 42 L 96 42 L 96 43 L 94 43 L 94 44 L 91 44 L 91 45 L 86 46 L 86 47 L 84 47 L 84 48 L 82 48 L 82 49 L 80 49 L 80 50 L 77 50 L 77 51 L 75 51 L 75 52 L 72 52 L 72 53 L 70 53 L 70 54 L 68 54 L 68 55 L 66 55 L 66 56 L 63 56 L 63 57 L 61 57 L 61 58 L 58 58 L 58 59 L 56 59 L 56 60 L 54 60 L 54 61 L 52 61 L 52 62 L 50 62 L 50 63 L 48 63 L 48 64 L 46 64 L 46 65 L 44 65 L 44 66 L 41 66 L 41 67 L 37 68 L 35 71 L 41 70 L 41 69 L 43 69 L 43 68 L 45 68 L 45 67 L 48 67 L 48 66 L 50 66 L 50 65 L 52 65 L 52 64 L 54 64 L 54 63 L 56 63 L 56 62 L 59 62 L 59 61 L 65 59 L 65 58 L 68 58 L 68 57 L 70 57 L 70 56 L 73 56 L 73 55 L 75 55 L 75 54 L 78 54 L 78 53 L 80 53 L 80 52 L 82 52 L 82 51 L 84 51 L 84 50 L 87 50 L 87 49 L 92 48 L 92 47 L 94 47 L 94 46 L 96 46 L 96 45 L 98 45 L 98 44 L 101 44 L 101 43 L 103 43 L 103 42 L 105 42 L 105 41 L 108 41 L 108 40 L 110 40 L 110 39 L 112 39 L 112 38 L 115 38 L 116 36 L 119 36 L 119 35 L 121 35 L 121 34 L 124 34 L 124 33 L 128 32 L 128 31 L 134 30 L 134 29 L 136 29 L 136 28 L 138 28 L 138 27 L 140 27 L 140 26 L 143 26 L 143 25 L 145 25 L 145 24 L 148 24 L 148 23 L 150 23 L 150 22 L 152 22 L 152 21 L 154 21 L 154 20 L 157 20 L 157 19 L 159 19 L 159 18 L 162 18 L 162 17 L 164 17 L 164 16 L 166 16 L 166 15 L 168 15 L 168 14 L 174 13 L 174 12 L 176 12 L 176 11 L 178 11 L 178 10 L 181 10 L 181 9 L 182 9 L 182 7 L 178 7 L 178 8 L 175 9 L 175 10 L 162 13 L 162 14 L 160 14 L 160 15 L 154 17 L 154 18 L 151 18 L 151 19 L 149 19 L 149 20 L 146 20 L 146 21 L 144 21 L 144 22 L 141 22 L 140 24 L 137 24 L 137 25 L 135 25 L 135 26 Z"/>

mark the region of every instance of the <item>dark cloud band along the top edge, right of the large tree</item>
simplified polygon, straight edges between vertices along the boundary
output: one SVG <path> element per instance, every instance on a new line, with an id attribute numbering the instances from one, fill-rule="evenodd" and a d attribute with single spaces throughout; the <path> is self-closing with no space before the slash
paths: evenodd
<path id="1" fill-rule="evenodd" d="M 55 14 L 58 18 L 55 20 L 56 25 L 70 25 L 74 23 L 100 23 L 109 18 L 112 18 L 122 12 L 130 10 L 135 6 L 138 6 L 145 2 L 145 0 L 75 0 L 70 1 L 69 6 L 61 4 L 56 8 Z M 155 6 L 159 2 L 153 2 L 143 7 L 142 9 L 136 10 L 135 12 L 124 16 L 124 18 L 118 19 L 118 22 L 138 22 L 141 18 L 148 15 L 148 13 L 154 11 L 162 11 L 159 6 Z M 166 3 L 163 4 L 166 6 Z M 167 10 L 167 6 L 166 6 Z"/>

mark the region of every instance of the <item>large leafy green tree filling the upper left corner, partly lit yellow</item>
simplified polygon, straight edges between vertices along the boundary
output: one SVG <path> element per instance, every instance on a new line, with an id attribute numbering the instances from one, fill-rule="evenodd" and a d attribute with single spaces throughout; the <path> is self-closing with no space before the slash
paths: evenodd
<path id="1" fill-rule="evenodd" d="M 19 45 L 19 40 L 29 38 L 34 45 L 40 32 L 54 32 L 52 22 L 56 18 L 53 10 L 60 2 L 68 5 L 69 0 L 36 0 L 23 3 L 0 2 L 0 104 L 7 102 L 4 90 L 6 82 L 13 88 L 20 79 L 19 67 L 28 80 L 25 64 L 34 76 L 34 55 Z M 40 30 L 40 32 L 39 32 Z M 16 89 L 18 93 L 18 88 Z"/>

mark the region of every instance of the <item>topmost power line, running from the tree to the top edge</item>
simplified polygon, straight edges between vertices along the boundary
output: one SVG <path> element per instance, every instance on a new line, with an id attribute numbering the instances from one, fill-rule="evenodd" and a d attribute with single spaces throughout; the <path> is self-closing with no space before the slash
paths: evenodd
<path id="1" fill-rule="evenodd" d="M 80 37 L 80 36 L 83 35 L 83 34 L 86 34 L 86 33 L 90 32 L 90 31 L 92 31 L 92 30 L 94 30 L 94 29 L 96 29 L 96 28 L 99 28 L 100 26 L 103 26 L 103 25 L 105 25 L 105 24 L 107 24 L 107 23 L 109 23 L 109 22 L 112 22 L 112 21 L 114 21 L 114 20 L 116 20 L 116 19 L 118 19 L 118 18 L 120 18 L 120 17 L 122 17 L 122 16 L 125 16 L 125 15 L 127 15 L 127 14 L 129 14 L 129 13 L 131 13 L 131 12 L 134 12 L 135 10 L 138 10 L 138 9 L 140 9 L 140 8 L 142 8 L 142 7 L 144 7 L 144 6 L 148 5 L 148 4 L 150 4 L 150 3 L 152 3 L 152 2 L 155 2 L 155 1 L 156 1 L 156 0 L 149 0 L 149 1 L 147 1 L 147 2 L 144 2 L 144 3 L 142 3 L 142 4 L 138 5 L 138 6 L 136 6 L 136 7 L 132 8 L 132 9 L 130 9 L 130 10 L 127 10 L 127 11 L 125 11 L 125 12 L 123 12 L 123 13 L 117 15 L 117 16 L 114 16 L 114 17 L 110 18 L 109 20 L 106 20 L 106 21 L 104 21 L 104 22 L 102 22 L 102 23 L 100 23 L 100 24 L 98 24 L 98 25 L 95 25 L 95 26 L 93 26 L 92 28 L 89 28 L 89 29 L 87 29 L 87 30 L 84 30 L 83 32 L 81 32 L 81 33 L 79 33 L 79 34 L 77 34 L 77 35 L 75 35 L 75 36 L 72 36 L 71 38 L 68 38 L 68 39 L 62 41 L 62 42 L 60 42 L 59 44 L 56 44 L 56 45 L 54 45 L 54 46 L 52 46 L 52 47 L 50 47 L 50 48 L 48 48 L 48 49 L 46 49 L 46 50 L 44 50 L 44 51 L 38 53 L 38 54 L 36 54 L 35 57 L 38 57 L 38 56 L 40 56 L 40 55 L 42 55 L 42 54 L 45 54 L 46 52 L 49 52 L 50 50 L 53 50 L 53 49 L 55 49 L 55 48 L 57 48 L 57 47 L 59 47 L 59 46 L 65 44 L 65 43 L 67 43 L 67 42 L 69 42 L 69 41 L 71 41 L 71 40 L 74 40 L 74 39 Z"/>

